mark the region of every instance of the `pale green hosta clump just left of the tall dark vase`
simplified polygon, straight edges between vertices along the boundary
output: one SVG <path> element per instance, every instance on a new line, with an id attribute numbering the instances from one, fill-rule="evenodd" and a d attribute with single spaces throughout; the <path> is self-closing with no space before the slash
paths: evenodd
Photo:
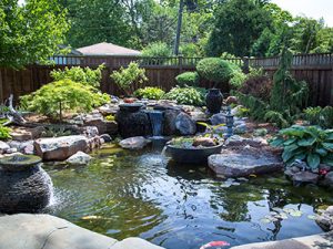
<path id="1" fill-rule="evenodd" d="M 199 87 L 173 87 L 165 94 L 167 100 L 176 101 L 178 104 L 198 105 L 204 104 L 205 90 Z"/>

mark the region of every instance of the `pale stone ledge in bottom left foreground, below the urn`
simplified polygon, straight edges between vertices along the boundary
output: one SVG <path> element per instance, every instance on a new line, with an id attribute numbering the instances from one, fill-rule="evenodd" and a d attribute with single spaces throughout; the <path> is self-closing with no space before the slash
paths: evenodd
<path id="1" fill-rule="evenodd" d="M 49 215 L 0 217 L 0 249 L 163 249 L 140 238 L 122 241 Z"/>

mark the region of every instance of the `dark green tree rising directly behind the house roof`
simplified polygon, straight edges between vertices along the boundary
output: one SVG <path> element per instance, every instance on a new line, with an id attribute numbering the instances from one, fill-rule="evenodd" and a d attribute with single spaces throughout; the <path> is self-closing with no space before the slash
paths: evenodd
<path id="1" fill-rule="evenodd" d="M 64 7 L 71 23 L 68 42 L 73 48 L 99 42 L 128 46 L 137 43 L 125 9 L 117 0 L 68 0 Z"/>

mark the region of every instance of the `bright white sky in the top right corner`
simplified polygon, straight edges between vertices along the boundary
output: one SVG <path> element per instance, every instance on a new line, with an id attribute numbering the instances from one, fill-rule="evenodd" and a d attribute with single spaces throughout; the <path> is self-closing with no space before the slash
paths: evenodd
<path id="1" fill-rule="evenodd" d="M 293 15 L 305 14 L 307 18 L 324 18 L 329 27 L 333 27 L 333 0 L 272 0 L 281 9 Z"/>

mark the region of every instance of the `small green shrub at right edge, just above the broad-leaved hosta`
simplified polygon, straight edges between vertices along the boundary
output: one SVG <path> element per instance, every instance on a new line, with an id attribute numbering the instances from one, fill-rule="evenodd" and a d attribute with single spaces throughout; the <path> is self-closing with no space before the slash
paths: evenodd
<path id="1" fill-rule="evenodd" d="M 323 128 L 333 127 L 332 106 L 325 106 L 324 108 L 322 108 L 321 106 L 307 107 L 306 110 L 304 110 L 304 117 L 312 125 L 320 125 Z"/>

